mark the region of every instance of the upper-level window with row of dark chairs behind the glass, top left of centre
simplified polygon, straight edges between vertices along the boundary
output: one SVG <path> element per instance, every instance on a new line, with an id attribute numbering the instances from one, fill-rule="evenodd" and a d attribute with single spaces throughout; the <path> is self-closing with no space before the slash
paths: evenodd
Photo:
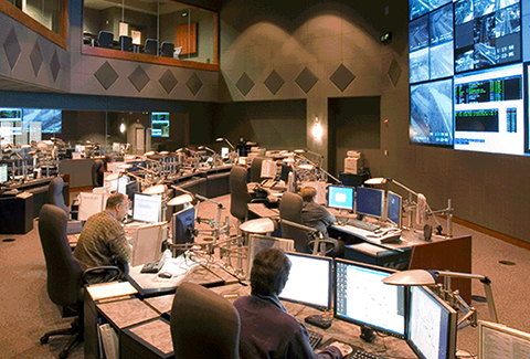
<path id="1" fill-rule="evenodd" d="M 218 64 L 218 14 L 172 0 L 85 0 L 83 44 L 179 60 L 177 65 L 183 65 L 180 61 Z M 83 52 L 123 57 L 86 47 Z"/>

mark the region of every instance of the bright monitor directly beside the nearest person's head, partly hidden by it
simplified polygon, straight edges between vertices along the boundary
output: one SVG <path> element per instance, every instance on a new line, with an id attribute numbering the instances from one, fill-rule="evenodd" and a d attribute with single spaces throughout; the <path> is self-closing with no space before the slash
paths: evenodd
<path id="1" fill-rule="evenodd" d="M 292 266 L 279 297 L 316 308 L 330 308 L 332 258 L 294 252 L 286 254 Z"/>

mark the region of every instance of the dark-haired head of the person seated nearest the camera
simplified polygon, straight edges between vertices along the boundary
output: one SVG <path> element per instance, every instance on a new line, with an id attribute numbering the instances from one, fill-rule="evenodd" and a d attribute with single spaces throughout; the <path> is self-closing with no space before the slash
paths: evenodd
<path id="1" fill-rule="evenodd" d="M 257 295 L 279 295 L 287 283 L 290 260 L 284 251 L 266 249 L 261 251 L 252 262 L 251 287 Z"/>

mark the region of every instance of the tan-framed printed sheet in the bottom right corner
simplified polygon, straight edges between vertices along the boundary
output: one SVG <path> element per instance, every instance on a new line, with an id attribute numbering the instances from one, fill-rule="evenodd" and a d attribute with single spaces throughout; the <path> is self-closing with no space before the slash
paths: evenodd
<path id="1" fill-rule="evenodd" d="M 530 353 L 530 334 L 501 324 L 478 320 L 477 359 L 517 359 Z"/>

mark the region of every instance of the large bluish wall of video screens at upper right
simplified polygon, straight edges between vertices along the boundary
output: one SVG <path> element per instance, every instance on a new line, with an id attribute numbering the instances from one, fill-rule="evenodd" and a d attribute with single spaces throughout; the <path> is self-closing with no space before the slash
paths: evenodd
<path id="1" fill-rule="evenodd" d="M 409 0 L 410 141 L 530 155 L 530 0 Z"/>

